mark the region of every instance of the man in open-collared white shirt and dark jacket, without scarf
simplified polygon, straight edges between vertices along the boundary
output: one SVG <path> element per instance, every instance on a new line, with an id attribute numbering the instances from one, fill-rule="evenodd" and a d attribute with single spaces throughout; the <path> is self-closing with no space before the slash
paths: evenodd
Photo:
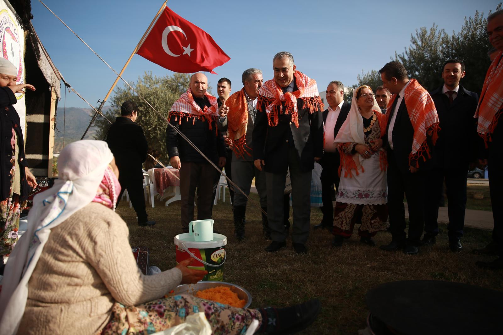
<path id="1" fill-rule="evenodd" d="M 321 171 L 321 201 L 323 206 L 321 212 L 323 218 L 321 223 L 314 226 L 317 228 L 333 229 L 333 203 L 332 190 L 333 185 L 339 188 L 339 165 L 341 157 L 337 145 L 333 143 L 337 133 L 348 116 L 351 105 L 344 101 L 344 85 L 341 81 L 330 81 L 325 92 L 328 108 L 323 111 L 323 124 L 325 125 L 325 143 L 323 145 L 323 157 L 319 163 L 323 170 Z"/>

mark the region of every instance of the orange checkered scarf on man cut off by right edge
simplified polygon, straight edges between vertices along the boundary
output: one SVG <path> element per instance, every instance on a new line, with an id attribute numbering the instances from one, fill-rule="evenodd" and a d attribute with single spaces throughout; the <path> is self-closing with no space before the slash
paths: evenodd
<path id="1" fill-rule="evenodd" d="M 485 145 L 491 141 L 498 118 L 503 114 L 503 51 L 499 51 L 485 75 L 482 94 L 475 117 L 478 117 L 477 132 Z"/>

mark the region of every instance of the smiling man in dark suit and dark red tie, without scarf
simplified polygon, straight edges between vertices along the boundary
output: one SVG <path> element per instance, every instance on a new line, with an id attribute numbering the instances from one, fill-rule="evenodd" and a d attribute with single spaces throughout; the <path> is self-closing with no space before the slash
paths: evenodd
<path id="1" fill-rule="evenodd" d="M 422 244 L 436 242 L 439 204 L 445 179 L 449 214 L 447 230 L 449 248 L 453 252 L 463 248 L 460 238 L 465 221 L 466 175 L 468 165 L 478 158 L 477 143 L 481 141 L 477 134 L 477 120 L 473 117 L 478 95 L 459 85 L 465 73 L 462 60 L 447 60 L 442 71 L 444 85 L 430 92 L 441 131 L 434 148 L 433 169 L 427 177 L 430 192 L 425 197 L 425 235 Z"/>

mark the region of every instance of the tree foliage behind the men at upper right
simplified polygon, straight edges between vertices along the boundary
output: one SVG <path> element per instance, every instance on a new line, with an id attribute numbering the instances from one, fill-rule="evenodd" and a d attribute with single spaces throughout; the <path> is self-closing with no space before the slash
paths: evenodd
<path id="1" fill-rule="evenodd" d="M 501 3 L 497 5 L 496 11 L 500 9 Z M 460 31 L 453 31 L 452 35 L 444 29 L 439 29 L 436 24 L 430 29 L 416 29 L 415 35 L 410 35 L 411 45 L 404 48 L 403 53 L 395 52 L 394 60 L 405 66 L 410 78 L 417 79 L 427 90 L 434 90 L 444 83 L 441 75 L 444 62 L 453 58 L 461 59 L 466 67 L 466 75 L 461 79 L 461 85 L 469 91 L 480 93 L 490 64 L 487 51 L 491 45 L 487 39 L 486 27 L 487 19 L 484 13 L 475 11 L 473 18 L 465 17 Z M 362 71 L 357 79 L 358 85 L 368 85 L 373 90 L 382 85 L 376 70 L 365 74 Z"/>

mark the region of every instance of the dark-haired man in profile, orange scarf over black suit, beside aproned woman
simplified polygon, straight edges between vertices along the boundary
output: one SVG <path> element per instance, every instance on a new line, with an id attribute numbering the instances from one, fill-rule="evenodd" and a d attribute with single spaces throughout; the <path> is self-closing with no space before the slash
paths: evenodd
<path id="1" fill-rule="evenodd" d="M 381 248 L 417 254 L 423 234 L 426 173 L 432 165 L 427 150 L 433 145 L 431 135 L 437 131 L 438 116 L 428 92 L 417 80 L 408 78 L 400 62 L 387 63 L 379 73 L 383 86 L 393 94 L 383 138 L 383 146 L 387 148 L 388 210 L 393 238 Z M 408 238 L 404 194 L 409 212 Z"/>

